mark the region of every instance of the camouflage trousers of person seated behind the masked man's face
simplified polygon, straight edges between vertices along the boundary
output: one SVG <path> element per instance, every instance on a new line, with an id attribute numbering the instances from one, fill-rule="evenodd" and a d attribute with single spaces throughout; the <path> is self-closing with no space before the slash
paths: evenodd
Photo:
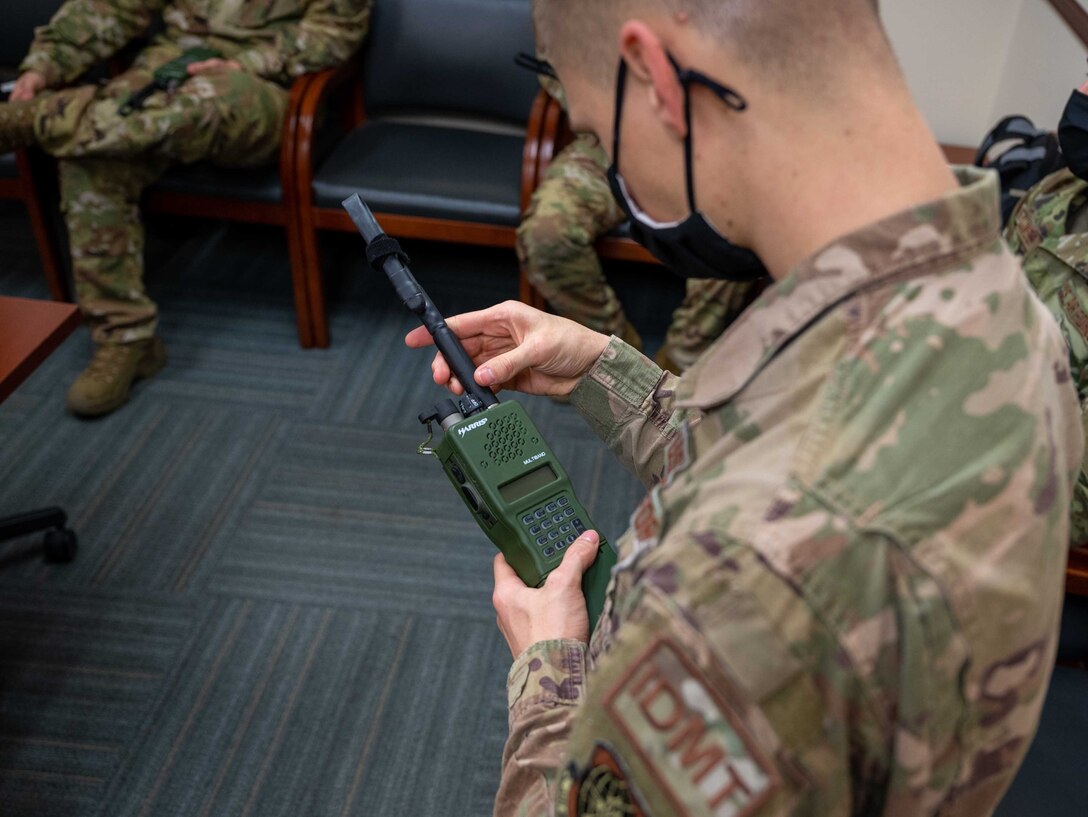
<path id="1" fill-rule="evenodd" d="M 518 258 L 530 283 L 565 318 L 623 335 L 627 317 L 605 280 L 594 245 L 623 221 L 608 187 L 608 159 L 593 136 L 579 135 L 547 169 L 518 228 Z M 665 352 L 687 369 L 752 301 L 751 285 L 688 281 L 672 314 Z"/>

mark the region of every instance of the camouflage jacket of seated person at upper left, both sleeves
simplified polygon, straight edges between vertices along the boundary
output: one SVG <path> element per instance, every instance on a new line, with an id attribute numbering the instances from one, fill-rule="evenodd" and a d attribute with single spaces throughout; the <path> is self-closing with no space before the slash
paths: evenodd
<path id="1" fill-rule="evenodd" d="M 367 33 L 372 0 L 69 0 L 36 33 L 21 71 L 51 87 L 71 83 L 148 30 L 161 11 L 161 39 L 206 46 L 281 84 L 337 65 Z"/>

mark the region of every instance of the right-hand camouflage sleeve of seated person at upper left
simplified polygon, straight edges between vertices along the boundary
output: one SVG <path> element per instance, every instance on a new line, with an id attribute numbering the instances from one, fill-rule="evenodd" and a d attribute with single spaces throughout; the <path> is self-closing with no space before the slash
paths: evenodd
<path id="1" fill-rule="evenodd" d="M 287 83 L 333 67 L 358 50 L 370 26 L 372 0 L 314 0 L 296 25 L 234 57 L 247 71 Z"/>

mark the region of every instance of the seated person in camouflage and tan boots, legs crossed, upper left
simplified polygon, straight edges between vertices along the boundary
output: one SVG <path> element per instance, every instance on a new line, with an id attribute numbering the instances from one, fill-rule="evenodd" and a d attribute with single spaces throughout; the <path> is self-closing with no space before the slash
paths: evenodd
<path id="1" fill-rule="evenodd" d="M 171 164 L 252 168 L 274 161 L 290 82 L 336 65 L 359 47 L 371 0 L 69 0 L 36 33 L 11 100 L 0 103 L 0 153 L 37 145 L 59 161 L 61 208 L 76 295 L 96 349 L 69 408 L 103 414 L 132 383 L 165 364 L 158 310 L 144 287 L 139 198 Z M 62 89 L 146 33 L 163 34 L 104 86 Z M 206 47 L 173 94 L 119 108 L 154 70 Z M 59 90 L 54 90 L 59 89 Z"/>

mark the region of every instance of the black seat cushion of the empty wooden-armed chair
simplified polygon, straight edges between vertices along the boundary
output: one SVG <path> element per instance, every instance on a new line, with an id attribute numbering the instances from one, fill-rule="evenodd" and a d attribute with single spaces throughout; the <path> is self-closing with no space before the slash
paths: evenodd
<path id="1" fill-rule="evenodd" d="M 313 198 L 338 209 L 358 193 L 375 212 L 517 226 L 523 136 L 368 121 L 314 174 Z"/>

